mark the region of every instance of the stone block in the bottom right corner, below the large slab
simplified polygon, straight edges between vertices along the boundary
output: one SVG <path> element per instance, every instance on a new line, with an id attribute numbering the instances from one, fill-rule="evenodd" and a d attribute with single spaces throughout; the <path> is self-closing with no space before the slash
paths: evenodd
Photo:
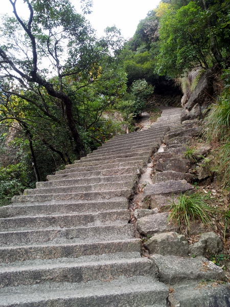
<path id="1" fill-rule="evenodd" d="M 230 283 L 203 280 L 174 286 L 169 300 L 172 307 L 229 307 Z"/>

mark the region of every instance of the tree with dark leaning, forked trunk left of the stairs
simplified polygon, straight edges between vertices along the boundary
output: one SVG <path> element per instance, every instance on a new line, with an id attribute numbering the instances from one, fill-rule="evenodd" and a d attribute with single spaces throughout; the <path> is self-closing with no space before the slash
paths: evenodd
<path id="1" fill-rule="evenodd" d="M 83 89 L 94 93 L 87 102 L 95 97 L 100 100 L 90 125 L 125 90 L 124 74 L 111 53 L 121 42 L 120 37 L 116 29 L 108 29 L 107 37 L 97 41 L 94 31 L 69 0 L 25 0 L 27 20 L 18 15 L 17 0 L 9 1 L 15 17 L 5 17 L 1 29 L 5 38 L 0 46 L 1 91 L 28 102 L 30 111 L 24 122 L 32 112 L 36 119 L 64 128 L 80 158 L 85 155 L 80 135 L 80 112 L 85 100 L 79 98 L 79 93 Z M 88 1 L 85 12 L 90 7 Z"/>

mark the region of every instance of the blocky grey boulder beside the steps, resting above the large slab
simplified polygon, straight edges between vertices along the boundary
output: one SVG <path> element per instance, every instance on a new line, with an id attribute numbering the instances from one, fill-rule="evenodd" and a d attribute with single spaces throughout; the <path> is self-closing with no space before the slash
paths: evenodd
<path id="1" fill-rule="evenodd" d="M 155 234 L 145 244 L 150 254 L 188 256 L 188 241 L 176 232 Z"/>

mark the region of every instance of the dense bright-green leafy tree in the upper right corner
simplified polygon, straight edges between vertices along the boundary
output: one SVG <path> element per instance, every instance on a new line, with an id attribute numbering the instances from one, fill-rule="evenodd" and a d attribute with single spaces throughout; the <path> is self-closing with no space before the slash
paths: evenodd
<path id="1" fill-rule="evenodd" d="M 187 3 L 181 1 L 178 8 L 173 2 L 160 19 L 157 69 L 162 75 L 177 77 L 185 70 L 208 69 L 229 57 L 227 1 Z"/>

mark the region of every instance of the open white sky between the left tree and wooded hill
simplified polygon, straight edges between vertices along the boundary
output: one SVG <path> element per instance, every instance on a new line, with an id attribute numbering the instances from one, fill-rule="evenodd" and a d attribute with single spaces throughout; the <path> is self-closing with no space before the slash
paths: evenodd
<path id="1" fill-rule="evenodd" d="M 17 2 L 18 12 L 24 14 L 25 5 L 22 0 Z M 86 15 L 86 18 L 97 30 L 98 36 L 103 35 L 106 27 L 115 25 L 127 39 L 133 36 L 139 21 L 146 17 L 148 11 L 156 8 L 159 2 L 160 0 L 94 0 L 93 13 Z M 79 0 L 72 0 L 72 3 L 77 5 Z M 1 0 L 0 12 L 12 12 L 9 0 Z"/>

